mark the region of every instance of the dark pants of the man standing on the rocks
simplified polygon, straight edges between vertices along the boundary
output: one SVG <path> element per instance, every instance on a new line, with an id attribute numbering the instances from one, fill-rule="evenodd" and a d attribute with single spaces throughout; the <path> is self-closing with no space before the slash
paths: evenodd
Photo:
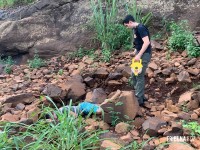
<path id="1" fill-rule="evenodd" d="M 133 86 L 135 89 L 135 96 L 137 97 L 139 104 L 144 103 L 145 73 L 146 73 L 148 63 L 151 60 L 151 54 L 144 53 L 141 59 L 142 59 L 142 65 L 143 65 L 142 72 L 138 76 L 135 76 L 134 74 L 132 74 Z"/>

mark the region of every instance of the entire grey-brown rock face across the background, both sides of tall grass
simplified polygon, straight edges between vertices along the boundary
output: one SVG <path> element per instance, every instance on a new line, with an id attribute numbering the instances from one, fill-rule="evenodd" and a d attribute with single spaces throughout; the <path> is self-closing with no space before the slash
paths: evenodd
<path id="1" fill-rule="evenodd" d="M 191 27 L 200 28 L 198 0 L 141 0 L 138 5 L 153 12 L 155 27 L 161 26 L 165 16 L 188 19 Z M 42 57 L 51 57 L 79 47 L 89 48 L 93 32 L 86 26 L 91 15 L 88 0 L 41 0 L 29 6 L 0 10 L 0 54 L 23 54 L 19 61 L 25 61 L 35 50 Z"/>

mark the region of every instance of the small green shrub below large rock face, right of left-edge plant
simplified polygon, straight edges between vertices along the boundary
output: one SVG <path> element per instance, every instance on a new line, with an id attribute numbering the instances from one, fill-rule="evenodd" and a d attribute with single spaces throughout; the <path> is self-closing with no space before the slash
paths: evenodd
<path id="1" fill-rule="evenodd" d="M 33 60 L 28 60 L 29 68 L 40 68 L 46 65 L 46 61 L 41 59 L 38 54 L 34 55 Z"/>

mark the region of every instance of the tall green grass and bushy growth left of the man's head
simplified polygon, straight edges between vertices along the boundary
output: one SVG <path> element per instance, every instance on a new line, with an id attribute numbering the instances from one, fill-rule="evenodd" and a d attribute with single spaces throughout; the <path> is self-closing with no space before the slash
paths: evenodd
<path id="1" fill-rule="evenodd" d="M 118 0 L 90 0 L 90 2 L 96 39 L 101 43 L 104 60 L 109 61 L 113 50 L 131 45 L 130 31 L 118 21 Z"/>

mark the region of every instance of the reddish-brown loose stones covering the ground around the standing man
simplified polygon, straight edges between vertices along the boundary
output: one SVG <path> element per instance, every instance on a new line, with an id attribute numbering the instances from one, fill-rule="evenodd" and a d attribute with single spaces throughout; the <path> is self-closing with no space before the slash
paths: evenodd
<path id="1" fill-rule="evenodd" d="M 154 48 L 162 50 L 159 45 Z M 68 61 L 61 56 L 52 58 L 46 67 L 39 69 L 31 70 L 27 65 L 15 65 L 11 75 L 0 71 L 0 120 L 37 121 L 42 111 L 40 104 L 50 103 L 44 97 L 41 100 L 41 95 L 51 97 L 60 107 L 62 102 L 68 104 L 70 100 L 74 104 L 83 100 L 101 104 L 117 90 L 121 90 L 114 102 L 102 106 L 105 110 L 104 121 L 86 120 L 87 130 L 99 127 L 103 130 L 112 129 L 111 110 L 107 108 L 112 107 L 113 112 L 120 112 L 115 116 L 119 124 L 114 130 L 102 135 L 102 138 L 112 137 L 113 140 L 103 141 L 102 148 L 120 149 L 134 140 L 141 143 L 155 137 L 148 141 L 147 146 L 154 149 L 166 142 L 167 136 L 189 135 L 190 131 L 182 127 L 181 120 L 200 121 L 200 92 L 198 86 L 181 92 L 179 89 L 182 88 L 180 83 L 191 86 L 195 82 L 195 85 L 199 85 L 200 59 L 188 58 L 184 51 L 172 53 L 168 60 L 168 52 L 153 51 L 146 74 L 148 101 L 143 108 L 139 107 L 134 91 L 128 85 L 132 59 L 130 53 L 116 52 L 110 63 L 93 60 L 88 56 Z M 151 88 L 158 84 L 160 87 Z M 162 92 L 162 85 L 173 88 L 165 93 Z M 179 94 L 174 98 L 173 94 L 177 91 Z M 129 120 L 134 122 L 124 123 Z M 199 139 L 189 144 L 200 148 Z M 168 149 L 179 146 L 182 145 L 171 144 Z"/>

